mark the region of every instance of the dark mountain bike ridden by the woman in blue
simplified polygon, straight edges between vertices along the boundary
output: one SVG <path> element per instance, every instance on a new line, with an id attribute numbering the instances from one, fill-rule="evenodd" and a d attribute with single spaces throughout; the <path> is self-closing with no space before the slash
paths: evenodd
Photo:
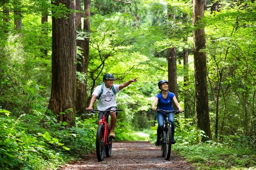
<path id="1" fill-rule="evenodd" d="M 162 110 L 157 109 L 158 113 L 164 115 L 164 128 L 163 133 L 161 135 L 160 145 L 161 145 L 161 151 L 162 156 L 165 158 L 165 160 L 169 160 L 170 158 L 170 151 L 172 150 L 172 125 L 170 124 L 168 120 L 169 113 L 180 113 L 179 110 Z"/>

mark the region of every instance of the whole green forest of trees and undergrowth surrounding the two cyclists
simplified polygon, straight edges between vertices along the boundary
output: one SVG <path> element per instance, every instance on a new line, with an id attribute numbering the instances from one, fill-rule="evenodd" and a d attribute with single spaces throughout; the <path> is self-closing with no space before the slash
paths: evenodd
<path id="1" fill-rule="evenodd" d="M 94 151 L 85 109 L 106 73 L 138 78 L 116 95 L 115 140 L 155 143 L 165 79 L 184 109 L 174 152 L 198 169 L 256 169 L 255 18 L 253 0 L 2 0 L 0 169 Z"/>

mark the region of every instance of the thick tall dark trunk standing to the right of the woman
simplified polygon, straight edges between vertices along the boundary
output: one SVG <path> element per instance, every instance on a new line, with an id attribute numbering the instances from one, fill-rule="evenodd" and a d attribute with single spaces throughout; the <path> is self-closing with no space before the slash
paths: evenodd
<path id="1" fill-rule="evenodd" d="M 206 80 L 206 53 L 200 52 L 205 48 L 205 35 L 204 26 L 198 22 L 204 16 L 204 6 L 204 0 L 193 0 L 193 23 L 196 27 L 194 30 L 195 96 L 197 126 L 206 133 L 208 139 L 211 139 Z"/>

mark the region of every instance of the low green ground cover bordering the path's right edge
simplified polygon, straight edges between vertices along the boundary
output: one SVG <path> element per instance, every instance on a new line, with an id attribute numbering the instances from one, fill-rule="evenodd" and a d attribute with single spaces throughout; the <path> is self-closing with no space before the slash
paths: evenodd
<path id="1" fill-rule="evenodd" d="M 198 166 L 197 169 L 253 169 L 256 155 L 252 141 L 250 137 L 225 136 L 221 143 L 208 141 L 187 146 L 179 143 L 174 150 Z"/>

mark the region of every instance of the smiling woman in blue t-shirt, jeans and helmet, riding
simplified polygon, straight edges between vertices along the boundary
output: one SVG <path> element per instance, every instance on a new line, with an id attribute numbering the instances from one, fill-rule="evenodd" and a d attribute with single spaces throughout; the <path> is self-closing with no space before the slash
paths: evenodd
<path id="1" fill-rule="evenodd" d="M 157 109 L 174 110 L 173 109 L 173 102 L 174 102 L 176 106 L 179 108 L 179 111 L 183 112 L 183 109 L 178 103 L 175 94 L 168 91 L 168 81 L 160 80 L 158 82 L 158 87 L 161 91 L 155 97 L 155 100 L 152 105 L 152 110 L 156 110 L 156 104 L 157 104 Z M 169 113 L 168 120 L 172 125 L 172 144 L 174 144 L 176 143 L 176 141 L 174 140 L 174 131 L 175 131 L 174 113 Z M 161 114 L 160 112 L 157 113 L 157 123 L 158 123 L 157 141 L 155 145 L 158 146 L 160 144 L 161 134 L 163 133 L 163 123 L 164 123 L 164 115 Z"/>

